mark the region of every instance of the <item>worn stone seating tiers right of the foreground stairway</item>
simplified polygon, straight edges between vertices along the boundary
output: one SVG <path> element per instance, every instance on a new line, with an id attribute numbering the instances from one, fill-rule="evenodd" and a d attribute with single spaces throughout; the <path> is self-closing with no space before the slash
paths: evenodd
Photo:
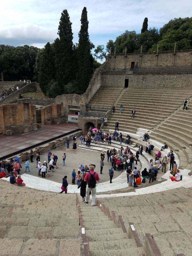
<path id="1" fill-rule="evenodd" d="M 129 222 L 134 224 L 142 244 L 146 233 L 150 233 L 160 255 L 191 255 L 192 188 L 100 201 L 109 211 L 122 216 L 126 228 Z"/>

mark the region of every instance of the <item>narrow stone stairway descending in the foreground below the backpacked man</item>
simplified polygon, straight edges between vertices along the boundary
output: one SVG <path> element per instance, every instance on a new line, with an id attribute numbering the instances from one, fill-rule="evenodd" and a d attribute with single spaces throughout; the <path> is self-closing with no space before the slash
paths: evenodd
<path id="1" fill-rule="evenodd" d="M 130 238 L 126 230 L 119 227 L 117 219 L 105 215 L 100 207 L 86 205 L 79 197 L 81 216 L 85 234 L 89 241 L 90 256 L 147 256 L 144 247 L 138 247 L 136 240 Z M 114 216 L 113 216 L 114 217 Z"/>

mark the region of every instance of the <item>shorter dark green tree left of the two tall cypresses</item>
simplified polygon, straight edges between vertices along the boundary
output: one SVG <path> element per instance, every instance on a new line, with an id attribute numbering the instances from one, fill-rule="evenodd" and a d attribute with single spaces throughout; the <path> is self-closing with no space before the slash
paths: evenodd
<path id="1" fill-rule="evenodd" d="M 55 51 L 48 42 L 38 56 L 38 82 L 43 93 L 46 94 L 49 82 L 55 78 Z"/>

